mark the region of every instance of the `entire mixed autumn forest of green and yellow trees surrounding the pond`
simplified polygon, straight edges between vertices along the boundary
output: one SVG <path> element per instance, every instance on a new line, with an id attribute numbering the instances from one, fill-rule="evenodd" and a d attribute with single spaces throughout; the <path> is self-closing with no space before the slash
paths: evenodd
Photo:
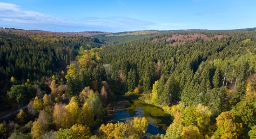
<path id="1" fill-rule="evenodd" d="M 255 28 L 99 33 L 0 32 L 0 138 L 256 138 Z M 134 99 L 172 123 L 113 121 Z"/>

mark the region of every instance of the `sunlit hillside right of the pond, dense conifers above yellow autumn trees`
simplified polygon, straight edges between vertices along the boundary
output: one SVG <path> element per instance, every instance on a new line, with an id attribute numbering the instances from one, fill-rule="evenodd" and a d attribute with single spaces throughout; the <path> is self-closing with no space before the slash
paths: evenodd
<path id="1" fill-rule="evenodd" d="M 129 94 L 142 87 L 145 101 L 175 115 L 164 138 L 179 139 L 189 132 L 199 133 L 197 138 L 249 138 L 248 131 L 256 124 L 256 109 L 251 107 L 255 101 L 249 101 L 256 93 L 255 31 L 161 33 L 107 45 L 102 56 L 111 67 L 110 79 Z M 191 119 L 199 115 L 186 115 L 198 113 L 196 107 L 210 118 L 202 119 L 204 126 Z M 219 122 L 225 120 L 234 125 L 222 127 Z"/>

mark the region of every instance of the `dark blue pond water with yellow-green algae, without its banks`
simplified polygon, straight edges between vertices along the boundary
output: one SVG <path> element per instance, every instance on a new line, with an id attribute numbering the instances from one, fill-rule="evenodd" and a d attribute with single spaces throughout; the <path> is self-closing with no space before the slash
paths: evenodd
<path id="1" fill-rule="evenodd" d="M 115 122 L 123 122 L 127 118 L 145 117 L 148 120 L 147 133 L 165 134 L 168 126 L 172 123 L 172 116 L 162 108 L 135 99 L 130 101 L 130 106 L 115 113 Z"/>

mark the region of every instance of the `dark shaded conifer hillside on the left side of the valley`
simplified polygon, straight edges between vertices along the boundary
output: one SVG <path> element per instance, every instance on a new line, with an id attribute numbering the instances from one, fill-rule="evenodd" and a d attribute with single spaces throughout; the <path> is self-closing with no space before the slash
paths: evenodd
<path id="1" fill-rule="evenodd" d="M 10 107 L 6 98 L 11 86 L 27 83 L 27 87 L 22 86 L 24 94 L 13 98 L 26 104 L 36 95 L 32 85 L 49 91 L 47 78 L 64 76 L 67 64 L 74 60 L 78 50 L 100 47 L 96 43 L 97 39 L 87 37 L 29 37 L 0 32 L 0 110 Z"/>

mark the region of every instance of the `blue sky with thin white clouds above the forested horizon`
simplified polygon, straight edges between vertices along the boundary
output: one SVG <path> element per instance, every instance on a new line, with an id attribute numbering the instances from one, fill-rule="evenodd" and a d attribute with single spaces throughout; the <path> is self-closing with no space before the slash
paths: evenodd
<path id="1" fill-rule="evenodd" d="M 0 0 L 0 27 L 53 32 L 256 27 L 256 0 Z"/>

